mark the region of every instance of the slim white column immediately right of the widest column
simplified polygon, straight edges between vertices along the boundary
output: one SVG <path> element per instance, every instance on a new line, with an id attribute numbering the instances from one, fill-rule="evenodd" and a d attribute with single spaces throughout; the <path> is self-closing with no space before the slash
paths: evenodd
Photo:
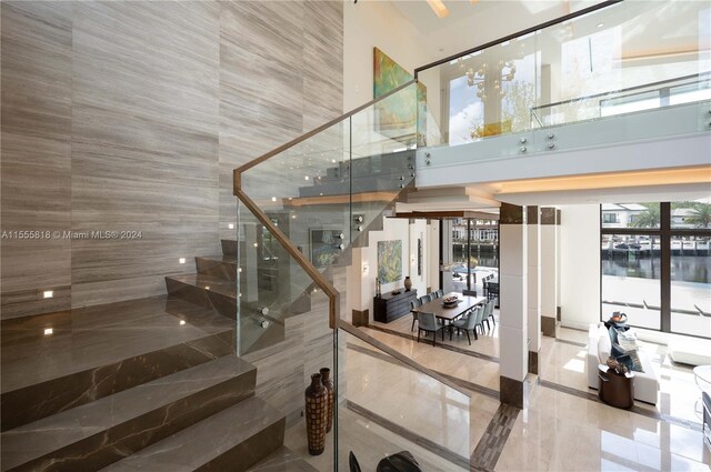
<path id="1" fill-rule="evenodd" d="M 539 352 L 541 350 L 541 247 L 540 209 L 527 207 L 528 241 L 528 338 L 529 373 L 539 372 Z"/>

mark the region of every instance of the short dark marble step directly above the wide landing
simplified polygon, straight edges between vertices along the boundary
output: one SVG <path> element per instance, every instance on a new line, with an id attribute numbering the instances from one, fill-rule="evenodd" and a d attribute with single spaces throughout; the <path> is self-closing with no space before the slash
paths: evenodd
<path id="1" fill-rule="evenodd" d="M 237 282 L 214 275 L 188 273 L 166 278 L 168 293 L 231 320 L 237 317 Z"/>

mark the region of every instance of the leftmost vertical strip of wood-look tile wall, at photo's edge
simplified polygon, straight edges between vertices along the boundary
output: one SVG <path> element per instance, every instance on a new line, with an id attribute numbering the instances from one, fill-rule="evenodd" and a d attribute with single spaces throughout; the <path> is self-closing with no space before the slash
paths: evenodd
<path id="1" fill-rule="evenodd" d="M 6 1 L 0 16 L 0 229 L 63 232 L 71 229 L 71 4 Z M 2 239 L 2 318 L 69 308 L 70 244 L 53 234 Z"/>

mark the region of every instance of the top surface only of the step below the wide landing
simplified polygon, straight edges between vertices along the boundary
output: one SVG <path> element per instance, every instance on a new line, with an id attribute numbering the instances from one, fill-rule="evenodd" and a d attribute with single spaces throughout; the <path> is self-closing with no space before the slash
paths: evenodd
<path id="1" fill-rule="evenodd" d="M 6 431 L 1 434 L 2 470 L 41 458 L 256 369 L 240 358 L 223 356 Z"/>

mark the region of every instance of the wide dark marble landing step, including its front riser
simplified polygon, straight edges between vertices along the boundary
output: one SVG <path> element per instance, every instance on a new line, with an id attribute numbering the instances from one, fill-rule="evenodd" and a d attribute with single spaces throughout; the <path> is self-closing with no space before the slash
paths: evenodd
<path id="1" fill-rule="evenodd" d="M 233 320 L 166 295 L 6 320 L 0 334 L 2 431 L 234 352 Z"/>

